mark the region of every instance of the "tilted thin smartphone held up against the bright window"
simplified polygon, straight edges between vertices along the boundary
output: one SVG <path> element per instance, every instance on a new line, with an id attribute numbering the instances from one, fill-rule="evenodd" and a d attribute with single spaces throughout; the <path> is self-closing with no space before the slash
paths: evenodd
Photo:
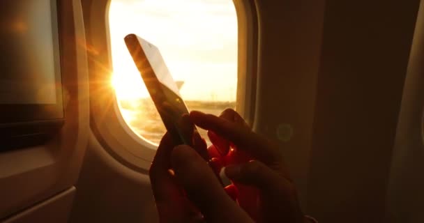
<path id="1" fill-rule="evenodd" d="M 158 47 L 135 34 L 124 40 L 165 128 L 176 143 L 192 146 L 195 126 L 188 119 L 188 109 Z"/>

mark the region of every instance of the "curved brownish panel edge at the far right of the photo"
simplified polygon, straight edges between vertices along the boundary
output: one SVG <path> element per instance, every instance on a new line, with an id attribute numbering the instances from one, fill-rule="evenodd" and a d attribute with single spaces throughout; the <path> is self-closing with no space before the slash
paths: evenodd
<path id="1" fill-rule="evenodd" d="M 416 23 L 387 193 L 391 222 L 424 222 L 424 1 Z"/>

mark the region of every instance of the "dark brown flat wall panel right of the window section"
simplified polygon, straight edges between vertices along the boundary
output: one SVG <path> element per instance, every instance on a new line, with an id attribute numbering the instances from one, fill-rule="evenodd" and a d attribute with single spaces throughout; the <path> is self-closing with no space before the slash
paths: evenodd
<path id="1" fill-rule="evenodd" d="M 326 1 L 307 209 L 321 222 L 385 222 L 418 4 Z"/>

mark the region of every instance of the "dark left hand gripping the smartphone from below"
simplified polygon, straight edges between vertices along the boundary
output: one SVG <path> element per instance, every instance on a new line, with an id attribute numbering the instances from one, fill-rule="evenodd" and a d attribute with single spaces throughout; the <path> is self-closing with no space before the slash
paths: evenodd
<path id="1" fill-rule="evenodd" d="M 199 155 L 206 144 L 197 134 L 193 145 L 177 146 L 169 133 L 160 141 L 149 170 L 160 222 L 252 222 Z"/>

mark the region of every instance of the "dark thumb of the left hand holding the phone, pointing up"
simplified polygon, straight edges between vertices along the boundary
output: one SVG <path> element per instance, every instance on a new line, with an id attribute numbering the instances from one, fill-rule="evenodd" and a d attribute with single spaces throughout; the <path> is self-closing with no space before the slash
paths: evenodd
<path id="1" fill-rule="evenodd" d="M 228 197 L 208 164 L 186 145 L 176 146 L 171 163 L 188 199 L 199 208 L 206 222 L 249 222 L 248 215 Z"/>

